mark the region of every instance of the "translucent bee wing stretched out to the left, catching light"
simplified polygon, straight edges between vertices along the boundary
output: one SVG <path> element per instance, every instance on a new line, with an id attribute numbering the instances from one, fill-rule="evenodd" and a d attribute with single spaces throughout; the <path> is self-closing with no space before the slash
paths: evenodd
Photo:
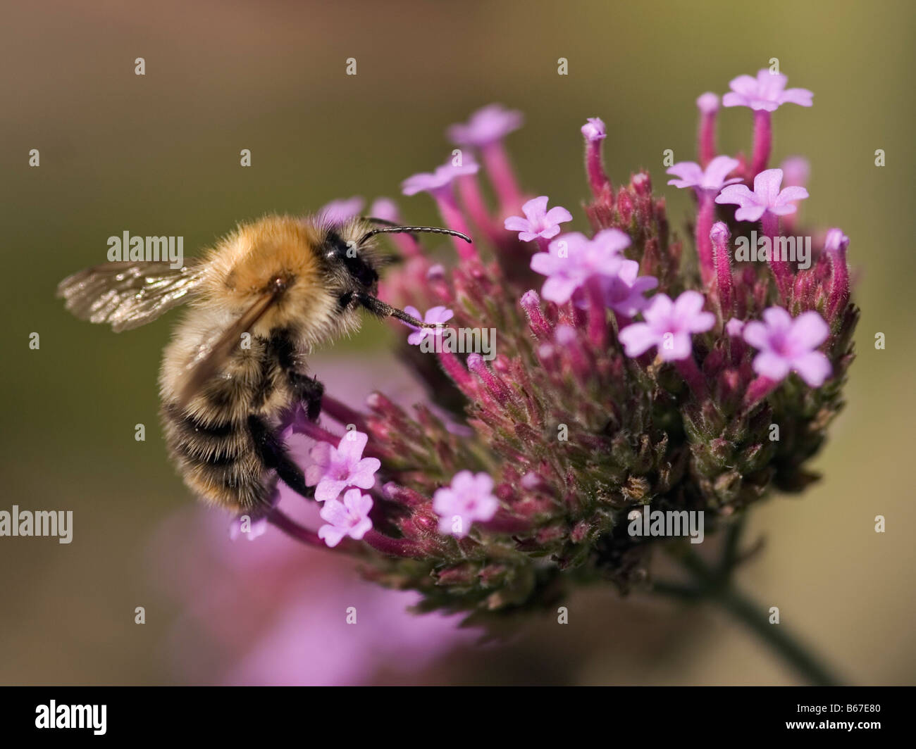
<path id="1" fill-rule="evenodd" d="M 202 279 L 200 263 L 104 263 L 64 278 L 58 297 L 80 320 L 108 322 L 114 332 L 156 320 L 188 300 Z"/>

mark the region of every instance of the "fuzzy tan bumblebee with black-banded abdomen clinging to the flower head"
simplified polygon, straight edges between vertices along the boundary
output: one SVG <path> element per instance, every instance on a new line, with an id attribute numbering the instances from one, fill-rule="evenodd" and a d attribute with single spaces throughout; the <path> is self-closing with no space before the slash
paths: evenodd
<path id="1" fill-rule="evenodd" d="M 194 494 L 236 514 L 267 510 L 277 480 L 311 497 L 279 437 L 290 409 L 321 413 L 324 387 L 306 371 L 318 346 L 356 331 L 360 309 L 431 327 L 376 297 L 390 261 L 385 233 L 463 233 L 371 218 L 267 216 L 241 224 L 206 255 L 109 262 L 65 278 L 58 296 L 81 320 L 115 332 L 190 309 L 163 352 L 161 419 L 171 459 Z"/>

